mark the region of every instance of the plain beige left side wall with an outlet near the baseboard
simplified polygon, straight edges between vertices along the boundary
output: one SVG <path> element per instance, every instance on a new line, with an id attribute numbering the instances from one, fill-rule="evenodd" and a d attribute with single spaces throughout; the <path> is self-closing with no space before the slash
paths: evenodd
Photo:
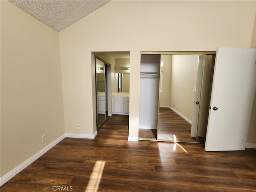
<path id="1" fill-rule="evenodd" d="M 58 32 L 1 1 L 1 177 L 65 133 L 60 68 Z"/>

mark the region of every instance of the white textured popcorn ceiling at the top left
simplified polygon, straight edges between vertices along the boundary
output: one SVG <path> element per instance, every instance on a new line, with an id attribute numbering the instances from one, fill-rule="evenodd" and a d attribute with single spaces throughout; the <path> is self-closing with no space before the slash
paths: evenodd
<path id="1" fill-rule="evenodd" d="M 60 32 L 110 0 L 9 0 Z"/>

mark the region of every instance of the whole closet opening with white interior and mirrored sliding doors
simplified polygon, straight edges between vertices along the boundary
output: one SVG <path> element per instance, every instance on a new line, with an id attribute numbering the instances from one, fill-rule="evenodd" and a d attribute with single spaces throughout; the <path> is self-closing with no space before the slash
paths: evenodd
<path id="1" fill-rule="evenodd" d="M 215 52 L 142 53 L 139 139 L 204 142 Z"/>

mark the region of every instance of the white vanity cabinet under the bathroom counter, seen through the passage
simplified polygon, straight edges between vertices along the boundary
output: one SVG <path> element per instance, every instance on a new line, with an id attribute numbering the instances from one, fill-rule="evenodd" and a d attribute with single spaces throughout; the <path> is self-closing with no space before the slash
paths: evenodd
<path id="1" fill-rule="evenodd" d="M 113 114 L 129 114 L 129 97 L 112 97 Z"/>

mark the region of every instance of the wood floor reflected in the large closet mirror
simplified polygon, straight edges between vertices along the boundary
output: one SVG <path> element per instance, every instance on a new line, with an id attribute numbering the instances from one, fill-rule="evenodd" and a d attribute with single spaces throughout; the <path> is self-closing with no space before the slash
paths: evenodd
<path id="1" fill-rule="evenodd" d="M 190 137 L 191 124 L 176 114 L 170 108 L 159 110 L 159 140 L 176 140 L 184 142 L 196 142 L 195 137 Z"/>

